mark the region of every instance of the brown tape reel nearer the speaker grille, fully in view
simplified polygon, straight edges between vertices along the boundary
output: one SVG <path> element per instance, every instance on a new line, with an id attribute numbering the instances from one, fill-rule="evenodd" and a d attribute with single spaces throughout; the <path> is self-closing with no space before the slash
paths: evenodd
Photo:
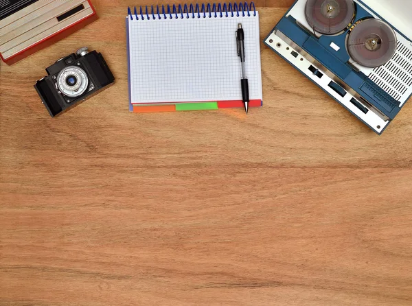
<path id="1" fill-rule="evenodd" d="M 398 40 L 393 29 L 379 19 L 365 19 L 347 37 L 347 51 L 365 67 L 386 64 L 395 54 Z"/>

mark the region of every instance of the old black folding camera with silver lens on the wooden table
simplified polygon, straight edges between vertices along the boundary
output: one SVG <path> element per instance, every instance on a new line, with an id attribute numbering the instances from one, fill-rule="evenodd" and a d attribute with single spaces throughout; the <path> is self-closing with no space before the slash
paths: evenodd
<path id="1" fill-rule="evenodd" d="M 34 85 L 50 116 L 55 117 L 113 84 L 115 78 L 102 54 L 78 49 L 47 67 Z"/>

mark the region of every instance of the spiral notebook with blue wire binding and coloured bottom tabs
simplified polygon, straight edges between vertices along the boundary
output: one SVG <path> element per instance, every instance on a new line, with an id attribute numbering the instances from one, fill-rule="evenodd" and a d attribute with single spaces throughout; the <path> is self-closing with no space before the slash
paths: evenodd
<path id="1" fill-rule="evenodd" d="M 249 106 L 262 106 L 259 14 L 253 3 L 129 8 L 130 111 L 243 107 L 238 23 L 244 29 Z"/>

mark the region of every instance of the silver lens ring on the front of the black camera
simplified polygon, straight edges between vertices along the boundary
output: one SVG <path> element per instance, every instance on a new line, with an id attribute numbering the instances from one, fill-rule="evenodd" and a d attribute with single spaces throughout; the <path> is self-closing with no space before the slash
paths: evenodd
<path id="1" fill-rule="evenodd" d="M 69 79 L 74 78 L 76 82 L 68 82 Z M 86 72 L 80 67 L 68 66 L 65 67 L 57 77 L 58 89 L 67 95 L 67 97 L 78 97 L 87 91 L 89 85 L 89 78 Z"/>

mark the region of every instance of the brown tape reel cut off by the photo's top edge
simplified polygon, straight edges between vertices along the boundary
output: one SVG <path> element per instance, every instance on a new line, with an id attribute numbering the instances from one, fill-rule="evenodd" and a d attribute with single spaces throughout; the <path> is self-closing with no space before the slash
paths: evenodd
<path id="1" fill-rule="evenodd" d="M 305 16 L 312 30 L 326 35 L 347 29 L 355 16 L 353 0 L 308 0 Z"/>

